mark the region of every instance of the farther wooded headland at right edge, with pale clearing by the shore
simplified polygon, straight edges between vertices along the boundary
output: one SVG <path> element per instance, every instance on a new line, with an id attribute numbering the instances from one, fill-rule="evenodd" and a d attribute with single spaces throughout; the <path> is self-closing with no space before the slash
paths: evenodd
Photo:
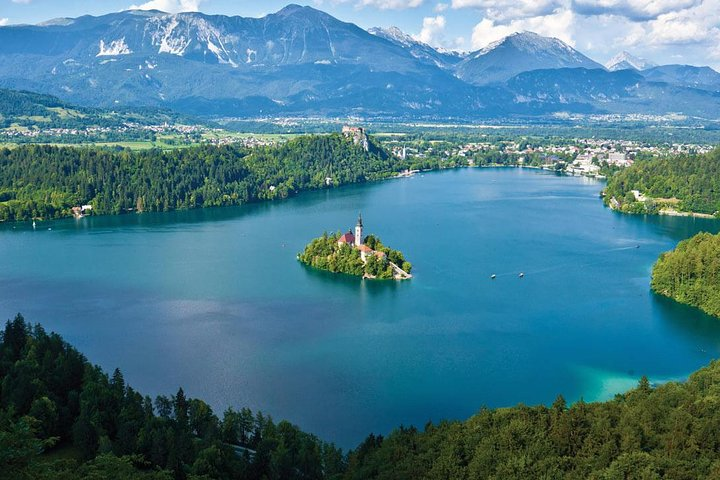
<path id="1" fill-rule="evenodd" d="M 632 190 L 656 200 L 636 202 Z M 677 199 L 686 212 L 720 212 L 720 149 L 704 155 L 638 160 L 612 176 L 606 201 L 615 198 L 623 211 L 657 213 L 662 199 Z"/>

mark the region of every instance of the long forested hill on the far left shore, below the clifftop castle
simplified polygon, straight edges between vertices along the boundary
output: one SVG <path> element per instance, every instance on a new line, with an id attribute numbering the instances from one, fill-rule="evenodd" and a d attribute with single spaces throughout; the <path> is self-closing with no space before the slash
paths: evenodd
<path id="1" fill-rule="evenodd" d="M 0 149 L 0 221 L 240 205 L 300 190 L 387 177 L 404 165 L 372 140 L 339 134 L 279 146 L 114 151 L 28 145 Z"/>

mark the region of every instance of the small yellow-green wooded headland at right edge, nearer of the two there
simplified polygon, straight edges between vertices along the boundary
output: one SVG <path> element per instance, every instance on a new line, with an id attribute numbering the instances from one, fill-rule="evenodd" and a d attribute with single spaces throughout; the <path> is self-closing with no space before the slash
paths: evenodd
<path id="1" fill-rule="evenodd" d="M 700 233 L 662 254 L 652 289 L 720 317 L 720 235 Z"/>

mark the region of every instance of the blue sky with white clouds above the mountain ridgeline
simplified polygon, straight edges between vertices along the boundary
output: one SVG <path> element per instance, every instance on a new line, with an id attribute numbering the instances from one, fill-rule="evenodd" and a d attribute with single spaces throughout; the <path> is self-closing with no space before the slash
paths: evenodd
<path id="1" fill-rule="evenodd" d="M 720 0 L 295 0 L 363 28 L 397 26 L 472 51 L 513 32 L 557 37 L 605 63 L 621 51 L 720 70 Z M 291 0 L 0 0 L 0 25 L 128 8 L 261 17 Z"/>

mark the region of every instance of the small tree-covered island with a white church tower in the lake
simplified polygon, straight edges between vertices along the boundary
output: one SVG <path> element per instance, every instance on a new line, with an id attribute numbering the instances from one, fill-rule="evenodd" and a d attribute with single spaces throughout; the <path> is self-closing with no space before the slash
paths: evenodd
<path id="1" fill-rule="evenodd" d="M 363 278 L 406 280 L 412 278 L 412 265 L 402 252 L 386 247 L 374 235 L 363 240 L 362 215 L 358 216 L 355 233 L 328 235 L 311 241 L 298 254 L 298 260 L 313 268 L 333 273 L 346 273 Z"/>

